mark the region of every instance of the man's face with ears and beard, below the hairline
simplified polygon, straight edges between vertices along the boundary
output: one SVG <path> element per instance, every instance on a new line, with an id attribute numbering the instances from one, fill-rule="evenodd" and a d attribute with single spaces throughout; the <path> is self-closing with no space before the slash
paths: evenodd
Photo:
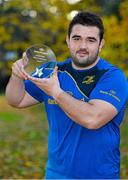
<path id="1" fill-rule="evenodd" d="M 76 68 L 84 68 L 96 62 L 103 40 L 100 42 L 97 27 L 77 24 L 73 26 L 70 38 L 67 37 L 67 44 L 73 65 Z"/>

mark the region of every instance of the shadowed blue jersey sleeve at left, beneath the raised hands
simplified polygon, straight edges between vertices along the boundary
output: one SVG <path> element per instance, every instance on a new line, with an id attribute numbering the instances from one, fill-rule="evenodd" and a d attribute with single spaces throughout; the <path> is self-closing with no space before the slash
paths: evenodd
<path id="1" fill-rule="evenodd" d="M 30 80 L 24 81 L 25 90 L 37 101 L 43 102 L 45 93 Z"/>

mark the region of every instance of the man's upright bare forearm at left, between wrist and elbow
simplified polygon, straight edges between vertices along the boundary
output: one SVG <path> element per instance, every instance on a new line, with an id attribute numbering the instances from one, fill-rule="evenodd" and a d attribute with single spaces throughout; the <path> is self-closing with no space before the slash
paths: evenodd
<path id="1" fill-rule="evenodd" d="M 12 75 L 6 87 L 6 99 L 12 106 L 17 105 L 22 101 L 25 95 L 24 82 L 17 76 Z"/>

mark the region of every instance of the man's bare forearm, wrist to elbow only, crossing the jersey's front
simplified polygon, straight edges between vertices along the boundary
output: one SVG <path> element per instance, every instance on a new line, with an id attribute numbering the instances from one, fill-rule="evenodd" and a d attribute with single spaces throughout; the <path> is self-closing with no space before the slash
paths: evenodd
<path id="1" fill-rule="evenodd" d="M 60 94 L 54 98 L 57 104 L 73 121 L 89 128 L 91 123 L 90 117 L 93 116 L 90 109 L 92 109 L 93 105 L 77 100 L 64 91 L 61 91 Z"/>

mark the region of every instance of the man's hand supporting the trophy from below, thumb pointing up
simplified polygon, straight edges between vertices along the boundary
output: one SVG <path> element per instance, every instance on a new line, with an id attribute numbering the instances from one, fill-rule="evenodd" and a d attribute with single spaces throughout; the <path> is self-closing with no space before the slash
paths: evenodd
<path id="1" fill-rule="evenodd" d="M 34 78 L 31 76 L 28 76 L 27 78 L 35 83 L 45 93 L 52 96 L 54 99 L 56 99 L 59 94 L 63 92 L 63 90 L 60 88 L 57 76 L 57 67 L 55 67 L 50 78 Z"/>

